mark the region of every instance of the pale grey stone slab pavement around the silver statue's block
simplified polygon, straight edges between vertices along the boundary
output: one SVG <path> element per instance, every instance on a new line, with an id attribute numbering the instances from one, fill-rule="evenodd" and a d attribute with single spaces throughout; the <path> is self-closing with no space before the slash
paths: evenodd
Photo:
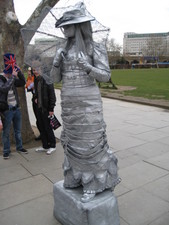
<path id="1" fill-rule="evenodd" d="M 60 119 L 58 90 L 56 95 Z M 35 125 L 30 97 L 27 93 Z M 103 106 L 122 178 L 115 189 L 121 225 L 169 225 L 169 110 L 106 98 Z M 60 131 L 55 132 L 58 138 Z M 13 152 L 9 160 L 0 156 L 0 225 L 60 224 L 53 217 L 52 192 L 63 179 L 62 162 L 60 143 L 49 156 L 34 148 L 28 155 Z"/>

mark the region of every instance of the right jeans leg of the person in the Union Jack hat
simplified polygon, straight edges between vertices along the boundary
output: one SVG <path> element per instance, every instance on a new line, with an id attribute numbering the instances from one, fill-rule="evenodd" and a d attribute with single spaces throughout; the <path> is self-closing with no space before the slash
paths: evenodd
<path id="1" fill-rule="evenodd" d="M 22 126 L 22 116 L 19 108 L 13 111 L 13 128 L 16 140 L 16 150 L 22 149 L 22 135 L 21 135 L 21 126 Z"/>

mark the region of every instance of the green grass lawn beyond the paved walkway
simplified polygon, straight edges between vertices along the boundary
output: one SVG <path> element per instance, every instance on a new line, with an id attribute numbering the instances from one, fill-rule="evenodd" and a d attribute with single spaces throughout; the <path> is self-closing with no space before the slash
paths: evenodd
<path id="1" fill-rule="evenodd" d="M 135 90 L 124 91 L 124 95 L 148 99 L 169 100 L 169 69 L 119 69 L 112 70 L 112 81 L 119 86 L 133 86 Z M 115 92 L 111 84 L 101 83 L 104 91 Z"/>

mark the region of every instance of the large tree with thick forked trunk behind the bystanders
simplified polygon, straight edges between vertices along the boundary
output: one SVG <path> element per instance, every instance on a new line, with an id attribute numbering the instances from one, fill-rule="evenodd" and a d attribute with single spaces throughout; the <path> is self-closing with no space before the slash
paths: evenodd
<path id="1" fill-rule="evenodd" d="M 17 64 L 23 69 L 24 65 L 24 43 L 21 35 L 21 28 L 33 28 L 29 32 L 28 42 L 32 39 L 35 30 L 40 26 L 43 18 L 47 15 L 50 8 L 59 0 L 42 0 L 36 10 L 33 12 L 29 20 L 22 26 L 15 14 L 13 0 L 0 0 L 0 68 L 3 71 L 3 54 L 11 52 L 16 55 Z M 46 8 L 48 6 L 48 8 Z M 45 9 L 45 11 L 44 11 Z M 43 12 L 43 14 L 42 14 Z M 27 43 L 28 44 L 28 43 Z M 34 138 L 34 133 L 30 125 L 25 89 L 18 88 L 21 112 L 22 112 L 22 137 L 23 143 Z M 1 141 L 1 140 L 0 140 Z"/>

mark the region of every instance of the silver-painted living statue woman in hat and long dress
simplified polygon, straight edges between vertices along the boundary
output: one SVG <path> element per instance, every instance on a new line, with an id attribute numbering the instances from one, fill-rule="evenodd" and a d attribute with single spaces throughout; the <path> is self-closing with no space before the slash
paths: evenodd
<path id="1" fill-rule="evenodd" d="M 96 80 L 110 79 L 104 45 L 92 39 L 91 15 L 84 4 L 67 11 L 56 22 L 67 39 L 57 50 L 50 72 L 52 82 L 62 81 L 61 106 L 64 148 L 64 187 L 83 186 L 82 202 L 92 200 L 120 182 L 117 158 L 107 143 L 102 100 Z"/>

